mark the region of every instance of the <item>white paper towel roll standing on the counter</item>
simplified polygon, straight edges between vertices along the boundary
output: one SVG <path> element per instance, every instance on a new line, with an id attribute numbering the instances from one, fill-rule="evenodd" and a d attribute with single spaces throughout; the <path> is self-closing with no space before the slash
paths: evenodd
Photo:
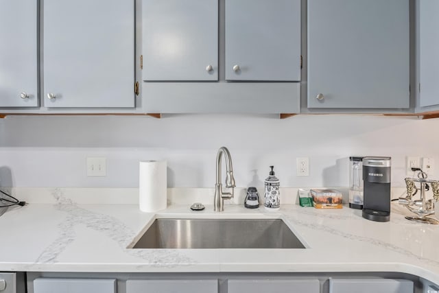
<path id="1" fill-rule="evenodd" d="M 140 161 L 139 207 L 151 213 L 166 209 L 167 170 L 166 161 Z"/>

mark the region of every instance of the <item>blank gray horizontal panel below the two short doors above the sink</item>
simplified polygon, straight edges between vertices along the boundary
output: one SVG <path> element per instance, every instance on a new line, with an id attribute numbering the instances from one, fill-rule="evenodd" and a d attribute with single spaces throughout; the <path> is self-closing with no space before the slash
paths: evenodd
<path id="1" fill-rule="evenodd" d="M 145 82 L 147 113 L 298 113 L 298 82 Z"/>

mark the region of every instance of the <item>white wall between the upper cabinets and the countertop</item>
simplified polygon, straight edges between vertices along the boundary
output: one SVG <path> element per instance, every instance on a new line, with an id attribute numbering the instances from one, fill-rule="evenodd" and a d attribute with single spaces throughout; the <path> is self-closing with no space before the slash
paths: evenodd
<path id="1" fill-rule="evenodd" d="M 222 145 L 238 187 L 263 186 L 270 165 L 283 187 L 347 186 L 353 154 L 392 156 L 392 185 L 404 186 L 405 156 L 439 163 L 438 129 L 439 119 L 361 115 L 10 116 L 0 186 L 137 187 L 139 160 L 167 159 L 169 187 L 213 187 Z M 87 156 L 106 156 L 108 176 L 86 177 Z M 297 156 L 309 156 L 310 176 L 296 176 Z"/>

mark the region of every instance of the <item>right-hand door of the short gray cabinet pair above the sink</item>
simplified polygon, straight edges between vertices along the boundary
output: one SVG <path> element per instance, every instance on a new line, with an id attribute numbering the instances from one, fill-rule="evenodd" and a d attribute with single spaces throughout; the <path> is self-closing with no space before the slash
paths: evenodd
<path id="1" fill-rule="evenodd" d="M 226 80 L 300 80 L 300 0 L 226 0 Z"/>

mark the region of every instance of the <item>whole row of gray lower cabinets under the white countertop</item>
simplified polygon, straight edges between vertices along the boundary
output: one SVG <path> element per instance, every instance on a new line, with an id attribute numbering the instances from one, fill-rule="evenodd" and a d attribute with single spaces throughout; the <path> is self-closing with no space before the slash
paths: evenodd
<path id="1" fill-rule="evenodd" d="M 1 277 L 4 276 L 0 274 L 0 281 Z M 420 277 L 392 272 L 330 274 L 27 272 L 26 276 L 17 273 L 17 277 L 21 277 L 17 279 L 21 281 L 16 282 L 21 283 L 21 287 L 26 279 L 29 293 L 414 293 L 438 288 L 438 285 Z M 5 280 L 7 283 L 11 281 L 8 277 Z"/>

